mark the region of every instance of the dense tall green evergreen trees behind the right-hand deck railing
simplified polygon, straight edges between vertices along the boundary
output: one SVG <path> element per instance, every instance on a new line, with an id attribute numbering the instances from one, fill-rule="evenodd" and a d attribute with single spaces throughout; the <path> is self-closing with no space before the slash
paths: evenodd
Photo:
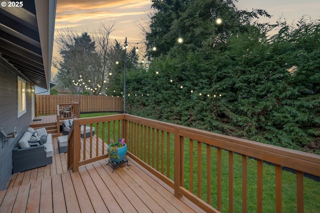
<path id="1" fill-rule="evenodd" d="M 224 22 L 217 26 L 215 14 L 205 14 L 218 1 L 183 1 L 171 12 L 182 1 L 152 2 L 159 11 L 147 39 L 156 39 L 161 27 L 169 35 L 157 40 L 160 50 L 150 53 L 148 71 L 128 76 L 128 113 L 292 149 L 319 143 L 318 20 L 261 24 L 252 18 L 269 16 L 264 10 L 229 3 L 220 8 Z M 170 31 L 184 26 L 178 44 Z"/>

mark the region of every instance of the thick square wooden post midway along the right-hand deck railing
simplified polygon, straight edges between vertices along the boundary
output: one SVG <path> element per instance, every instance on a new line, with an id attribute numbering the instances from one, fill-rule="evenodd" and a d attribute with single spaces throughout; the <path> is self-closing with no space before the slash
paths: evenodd
<path id="1" fill-rule="evenodd" d="M 179 136 L 179 130 L 174 129 L 174 196 L 181 198 L 180 186 L 181 186 L 181 137 Z"/>

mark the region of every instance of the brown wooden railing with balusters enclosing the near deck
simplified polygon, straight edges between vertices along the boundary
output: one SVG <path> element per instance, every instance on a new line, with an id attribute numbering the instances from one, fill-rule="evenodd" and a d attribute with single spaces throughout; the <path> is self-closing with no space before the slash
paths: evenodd
<path id="1" fill-rule="evenodd" d="M 80 139 L 81 125 L 95 127 L 100 136 Z M 68 141 L 68 149 L 73 149 L 68 150 L 73 154 L 68 157 L 72 159 L 68 168 L 73 172 L 106 158 L 105 143 L 123 137 L 129 157 L 174 189 L 175 197 L 184 196 L 206 212 L 260 213 L 270 208 L 286 212 L 283 191 L 289 186 L 295 189 L 296 203 L 292 205 L 303 213 L 303 173 L 320 176 L 318 155 L 128 114 L 75 119 L 73 128 Z M 268 167 L 274 172 L 265 172 Z M 283 180 L 284 167 L 294 171 L 295 181 Z M 265 189 L 263 183 L 270 179 L 274 187 Z M 265 201 L 266 193 L 273 194 L 274 200 Z"/>

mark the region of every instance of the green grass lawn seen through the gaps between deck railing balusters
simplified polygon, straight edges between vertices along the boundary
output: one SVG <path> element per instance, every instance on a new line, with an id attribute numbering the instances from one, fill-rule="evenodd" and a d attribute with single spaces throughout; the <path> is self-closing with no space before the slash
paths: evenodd
<path id="1" fill-rule="evenodd" d="M 117 113 L 90 113 L 90 114 L 80 114 L 80 118 L 113 115 Z M 118 135 L 121 135 L 120 130 L 118 130 L 120 124 L 118 121 L 106 122 L 104 127 L 104 141 L 108 142 L 109 139 L 117 140 Z M 93 125 L 96 128 L 96 125 Z M 138 135 L 133 135 L 131 152 L 138 156 L 140 159 L 144 160 L 145 163 L 152 166 L 157 171 L 163 171 L 164 175 L 167 175 L 166 164 L 169 163 L 168 177 L 173 180 L 173 134 L 169 134 L 169 158 L 167 158 L 167 133 L 150 130 L 148 128 L 144 129 L 137 125 Z M 146 130 L 146 131 L 145 131 Z M 150 140 L 148 136 L 150 134 Z M 144 135 L 144 136 L 143 136 Z M 99 137 L 102 138 L 102 124 L 99 124 Z M 159 138 L 163 137 L 164 143 L 161 143 Z M 153 140 L 154 139 L 154 140 Z M 141 143 L 141 141 L 143 143 Z M 198 146 L 196 141 L 193 141 L 192 148 L 190 149 L 191 143 L 189 139 L 184 141 L 184 188 L 192 192 L 194 195 L 198 195 L 198 183 L 201 187 L 199 196 L 205 202 L 207 202 L 207 171 L 206 171 L 206 145 L 200 144 Z M 130 147 L 128 147 L 130 148 Z M 200 150 L 198 150 L 198 148 Z M 142 150 L 146 150 L 146 153 Z M 163 150 L 163 151 L 162 151 Z M 163 152 L 163 153 L 162 153 Z M 217 204 L 216 188 L 217 188 L 217 149 L 215 147 L 210 147 L 210 203 L 214 208 Z M 198 153 L 201 153 L 201 157 L 198 158 Z M 191 158 L 190 158 L 191 155 Z M 221 151 L 222 160 L 222 212 L 229 212 L 228 210 L 228 151 Z M 158 156 L 163 156 L 164 160 L 161 162 L 161 158 Z M 159 160 L 157 160 L 159 159 Z M 199 159 L 199 162 L 198 162 Z M 193 162 L 193 170 L 190 171 L 190 160 Z M 163 163 L 163 168 L 162 168 Z M 200 165 L 200 174 L 198 174 L 198 165 Z M 192 178 L 192 183 L 190 183 L 190 176 Z M 198 177 L 200 181 L 198 182 Z M 242 193 L 242 165 L 241 156 L 233 154 L 233 181 L 234 181 L 234 212 L 241 212 L 241 193 Z M 257 161 L 254 159 L 247 158 L 247 212 L 255 213 L 256 210 L 256 183 L 257 183 Z M 305 213 L 318 213 L 320 212 L 320 183 L 313 181 L 308 178 L 303 179 L 304 184 L 304 212 Z M 295 174 L 287 171 L 282 171 L 282 212 L 283 213 L 295 213 L 296 212 L 296 176 Z M 265 213 L 275 213 L 275 168 L 272 165 L 263 164 L 263 203 L 262 208 Z"/>

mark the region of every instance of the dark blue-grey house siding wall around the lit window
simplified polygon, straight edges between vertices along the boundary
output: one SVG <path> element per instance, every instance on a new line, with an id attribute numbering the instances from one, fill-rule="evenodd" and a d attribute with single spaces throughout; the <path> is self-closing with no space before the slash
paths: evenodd
<path id="1" fill-rule="evenodd" d="M 3 59 L 0 60 L 0 126 L 6 133 L 12 132 L 14 127 L 18 132 L 16 138 L 9 138 L 5 144 L 0 139 L 0 191 L 6 189 L 12 176 L 12 149 L 31 121 L 31 92 L 28 82 L 26 82 L 26 113 L 17 118 L 17 75 L 16 70 Z"/>

